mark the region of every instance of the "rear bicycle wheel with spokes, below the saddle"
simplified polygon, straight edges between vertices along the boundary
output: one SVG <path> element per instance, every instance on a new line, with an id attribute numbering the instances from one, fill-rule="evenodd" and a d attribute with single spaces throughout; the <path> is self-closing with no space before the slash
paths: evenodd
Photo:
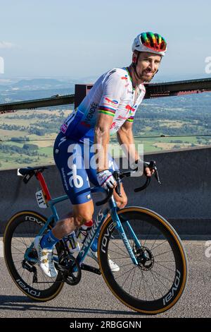
<path id="1" fill-rule="evenodd" d="M 32 248 L 25 259 L 25 252 L 32 244 L 46 218 L 34 211 L 21 211 L 8 220 L 4 233 L 4 258 L 11 277 L 20 290 L 33 300 L 49 301 L 58 295 L 63 279 L 58 271 L 56 278 L 47 277 L 39 268 L 37 251 Z M 59 244 L 53 251 L 58 261 Z"/>

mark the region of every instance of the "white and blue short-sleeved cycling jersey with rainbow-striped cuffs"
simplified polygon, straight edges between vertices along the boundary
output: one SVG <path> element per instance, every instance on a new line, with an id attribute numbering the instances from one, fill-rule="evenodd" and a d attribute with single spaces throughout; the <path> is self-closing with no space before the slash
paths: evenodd
<path id="1" fill-rule="evenodd" d="M 60 127 L 65 136 L 79 142 L 94 143 L 94 127 L 98 113 L 113 117 L 110 135 L 115 134 L 124 121 L 134 121 L 134 115 L 143 100 L 146 89 L 143 84 L 132 86 L 127 68 L 115 68 L 104 73 L 79 107 L 75 109 Z"/>

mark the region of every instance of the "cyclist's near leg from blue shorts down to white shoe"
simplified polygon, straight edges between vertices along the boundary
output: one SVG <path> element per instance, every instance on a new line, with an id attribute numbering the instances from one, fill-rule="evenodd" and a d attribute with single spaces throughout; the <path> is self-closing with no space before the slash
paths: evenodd
<path id="1" fill-rule="evenodd" d="M 94 205 L 91 200 L 89 179 L 82 158 L 82 149 L 78 143 L 58 134 L 53 148 L 54 160 L 60 171 L 63 186 L 73 205 L 73 213 L 68 218 L 59 220 L 53 230 L 43 237 L 34 239 L 39 266 L 49 277 L 57 275 L 53 263 L 53 247 L 65 235 L 76 227 L 91 220 Z"/>

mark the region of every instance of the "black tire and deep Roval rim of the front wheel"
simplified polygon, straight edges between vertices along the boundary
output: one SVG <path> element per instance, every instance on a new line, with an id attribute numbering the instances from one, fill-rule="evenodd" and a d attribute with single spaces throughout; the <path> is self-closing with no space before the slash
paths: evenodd
<path id="1" fill-rule="evenodd" d="M 133 227 L 137 227 L 137 229 L 139 229 L 139 231 L 141 232 L 141 235 L 139 235 L 139 237 L 143 237 L 143 241 L 145 240 L 144 244 L 153 243 L 151 249 L 149 247 L 147 249 L 147 247 L 143 246 L 143 248 L 146 248 L 144 250 L 148 253 L 148 257 L 151 257 L 151 266 L 149 265 L 148 270 L 146 269 L 146 271 L 144 271 L 145 266 L 141 266 L 141 263 L 139 264 L 139 266 L 134 265 L 128 254 L 127 249 L 124 247 L 124 242 L 120 237 L 116 236 L 119 233 L 115 228 L 115 222 L 113 222 L 110 216 L 103 224 L 101 233 L 98 238 L 99 266 L 101 268 L 103 278 L 108 287 L 110 288 L 111 292 L 113 292 L 113 295 L 115 295 L 115 297 L 117 297 L 117 299 L 120 300 L 127 307 L 135 310 L 136 312 L 141 312 L 143 314 L 159 314 L 161 312 L 165 312 L 166 310 L 170 309 L 174 304 L 176 304 L 186 287 L 188 278 L 188 261 L 186 259 L 186 252 L 184 250 L 183 244 L 181 243 L 181 240 L 179 239 L 179 236 L 177 235 L 177 232 L 174 230 L 172 225 L 170 225 L 170 223 L 168 223 L 167 220 L 162 218 L 160 215 L 147 208 L 128 207 L 117 211 L 117 214 L 119 215 L 122 226 L 125 229 L 127 228 L 125 226 L 125 221 L 129 220 L 130 224 L 132 224 Z M 139 223 L 138 225 L 138 223 L 132 220 L 138 220 L 139 222 L 142 221 L 142 224 Z M 146 235 L 146 223 L 150 225 L 151 230 L 154 229 L 149 236 Z M 157 233 L 159 232 L 160 235 L 157 235 Z M 163 237 L 166 239 L 164 242 L 162 242 Z M 158 245 L 156 247 L 154 247 L 155 239 L 158 240 Z M 132 244 L 132 246 L 134 245 L 134 239 L 130 238 L 129 242 L 130 244 Z M 169 246 L 172 250 L 172 254 L 170 257 L 174 259 L 174 262 L 173 260 L 165 260 L 162 263 L 159 263 L 160 258 L 158 259 L 158 257 L 162 255 L 159 253 L 159 251 L 161 251 L 162 248 L 165 248 L 166 246 Z M 157 255 L 155 255 L 155 251 L 153 251 L 153 249 L 156 248 L 158 251 Z M 121 266 L 121 259 L 124 259 L 125 261 L 126 256 L 123 256 L 122 252 L 124 252 L 124 255 L 128 255 L 127 264 L 123 266 Z M 163 252 L 163 255 L 165 255 L 164 258 L 167 256 L 167 252 L 168 251 Z M 110 253 L 115 256 L 113 257 Z M 122 257 L 117 257 L 120 254 L 122 254 Z M 108 258 L 113 259 L 115 263 L 118 263 L 120 261 L 119 272 L 112 272 L 110 270 Z M 129 273 L 126 271 L 124 273 L 124 271 L 128 268 L 127 266 L 131 264 L 133 266 L 133 272 Z M 134 283 L 136 283 L 136 287 L 133 291 L 134 293 L 130 294 L 128 292 L 128 288 L 130 287 L 131 291 L 132 282 L 130 282 L 129 276 L 132 273 L 134 273 L 135 275 L 136 271 L 139 271 L 139 278 L 137 281 L 134 281 Z M 163 283 L 163 285 L 159 283 L 159 287 L 158 285 L 156 285 L 157 287 L 154 287 L 153 284 L 151 285 L 151 287 L 149 287 L 149 284 L 152 282 L 152 280 L 156 281 L 157 279 L 160 279 L 160 275 L 162 275 L 162 273 L 165 273 L 164 278 L 167 279 L 165 280 L 165 283 L 169 283 L 170 285 L 172 285 L 171 287 L 169 287 L 168 291 L 164 290 L 163 293 L 162 288 L 165 289 L 165 287 L 167 287 L 165 283 Z M 120 285 L 120 280 L 123 280 L 124 275 L 124 284 Z M 169 282 L 168 280 L 170 276 L 172 277 L 172 280 L 170 280 Z M 142 284 L 144 285 L 145 281 L 148 288 L 145 286 L 142 287 Z M 137 295 L 134 295 L 137 293 L 138 290 L 139 293 L 141 292 L 141 299 L 139 297 L 139 294 L 138 297 Z M 153 295 L 152 290 L 155 290 L 155 295 L 157 297 Z M 153 295 L 153 299 L 150 298 L 151 294 Z M 149 299 L 147 299 L 146 295 L 148 295 Z"/>

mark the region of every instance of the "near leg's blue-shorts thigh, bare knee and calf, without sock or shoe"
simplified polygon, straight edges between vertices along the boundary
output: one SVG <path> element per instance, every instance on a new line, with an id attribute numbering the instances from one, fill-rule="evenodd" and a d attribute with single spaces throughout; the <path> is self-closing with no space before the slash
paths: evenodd
<path id="1" fill-rule="evenodd" d="M 54 160 L 60 171 L 66 194 L 72 203 L 72 213 L 53 228 L 53 235 L 61 239 L 76 227 L 91 220 L 94 204 L 89 178 L 84 169 L 83 146 L 59 134 L 53 148 Z"/>

